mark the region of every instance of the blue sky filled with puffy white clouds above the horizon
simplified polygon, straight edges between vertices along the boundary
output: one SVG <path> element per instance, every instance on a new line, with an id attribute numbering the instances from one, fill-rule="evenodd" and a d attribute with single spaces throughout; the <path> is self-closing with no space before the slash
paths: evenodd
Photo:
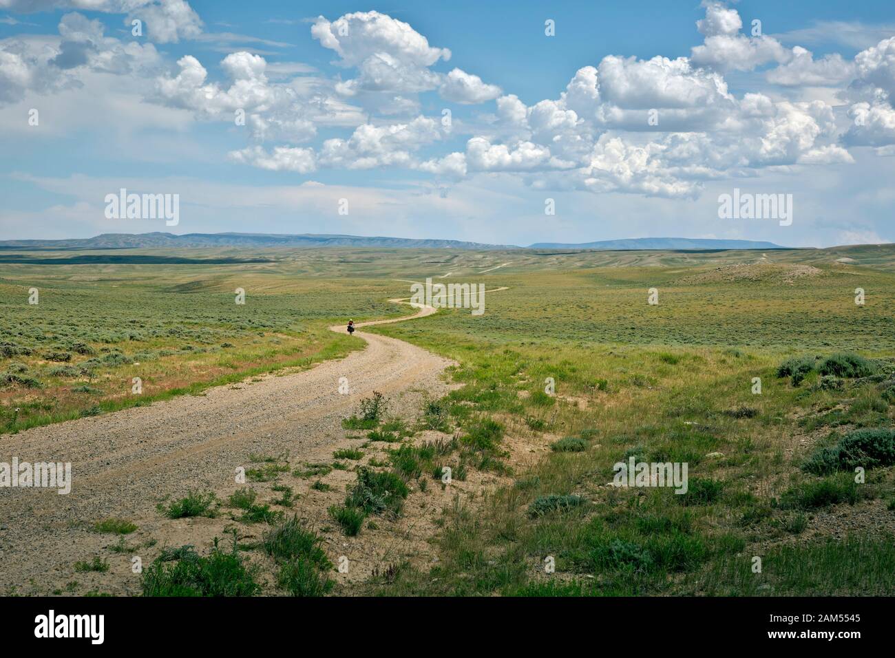
<path id="1" fill-rule="evenodd" d="M 891 2 L 0 0 L 0 239 L 895 242 L 891 94 Z"/>

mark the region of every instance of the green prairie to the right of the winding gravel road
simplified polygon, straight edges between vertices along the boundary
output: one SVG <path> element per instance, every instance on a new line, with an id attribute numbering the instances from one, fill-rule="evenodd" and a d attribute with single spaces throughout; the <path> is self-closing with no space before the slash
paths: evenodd
<path id="1" fill-rule="evenodd" d="M 509 289 L 486 295 L 481 317 L 452 311 L 375 329 L 461 363 L 465 386 L 449 397 L 458 419 L 483 413 L 507 436 L 571 439 L 481 509 L 454 509 L 441 566 L 399 570 L 371 591 L 895 593 L 891 462 L 868 467 L 865 483 L 803 468 L 850 432 L 891 428 L 893 278 L 819 265 L 762 261 L 745 277 L 723 265 L 504 273 L 493 282 Z M 823 374 L 849 352 L 869 357 L 873 373 Z M 804 380 L 778 376 L 803 356 Z M 884 440 L 892 449 L 895 434 Z M 608 486 L 612 466 L 632 456 L 686 462 L 690 490 Z"/>

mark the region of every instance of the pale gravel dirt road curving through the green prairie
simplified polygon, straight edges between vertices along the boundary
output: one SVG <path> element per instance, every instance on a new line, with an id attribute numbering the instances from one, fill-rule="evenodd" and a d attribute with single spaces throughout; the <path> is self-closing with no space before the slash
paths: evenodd
<path id="1" fill-rule="evenodd" d="M 435 312 L 417 308 L 405 318 L 358 327 Z M 345 331 L 345 326 L 330 329 Z M 362 331 L 358 335 L 367 342 L 365 349 L 308 371 L 270 375 L 209 389 L 201 396 L 175 397 L 0 438 L 0 462 L 18 457 L 20 462 L 72 464 L 72 491 L 67 495 L 0 488 L 0 594 L 10 594 L 13 587 L 21 594 L 50 594 L 74 579 L 90 581 L 92 574 L 76 574 L 72 564 L 90 560 L 111 543 L 109 535 L 90 530 L 106 517 L 132 520 L 140 526 L 140 536 L 159 543 L 199 546 L 202 539 L 210 539 L 202 536 L 201 523 L 187 528 L 186 519 L 166 520 L 156 509 L 159 500 L 197 489 L 231 492 L 235 469 L 250 466 L 253 454 L 286 454 L 293 463 L 300 462 L 315 449 L 342 439 L 341 419 L 373 390 L 387 395 L 398 412 L 395 407 L 418 404 L 415 398 L 421 391 L 435 397 L 447 391 L 440 378 L 450 363 L 446 359 L 394 338 Z M 342 377 L 350 389 L 347 395 L 338 391 Z M 130 576 L 129 567 L 130 560 L 115 564 L 122 577 Z M 113 590 L 133 593 L 133 586 Z M 83 594 L 74 587 L 72 591 Z"/>

